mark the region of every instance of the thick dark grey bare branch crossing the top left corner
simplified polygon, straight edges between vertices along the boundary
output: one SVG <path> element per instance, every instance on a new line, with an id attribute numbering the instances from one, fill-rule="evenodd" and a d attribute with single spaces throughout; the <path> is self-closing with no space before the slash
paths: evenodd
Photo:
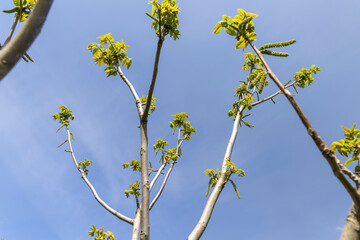
<path id="1" fill-rule="evenodd" d="M 38 0 L 16 36 L 0 50 L 0 80 L 15 66 L 39 35 L 53 0 Z"/>

